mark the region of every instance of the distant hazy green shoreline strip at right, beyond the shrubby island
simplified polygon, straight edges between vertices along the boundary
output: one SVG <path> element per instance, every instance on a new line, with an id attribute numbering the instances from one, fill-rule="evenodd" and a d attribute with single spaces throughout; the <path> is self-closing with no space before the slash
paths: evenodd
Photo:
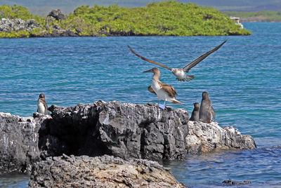
<path id="1" fill-rule="evenodd" d="M 224 12 L 228 16 L 243 18 L 246 21 L 266 21 L 266 22 L 281 22 L 280 11 L 259 11 L 259 12 Z"/>

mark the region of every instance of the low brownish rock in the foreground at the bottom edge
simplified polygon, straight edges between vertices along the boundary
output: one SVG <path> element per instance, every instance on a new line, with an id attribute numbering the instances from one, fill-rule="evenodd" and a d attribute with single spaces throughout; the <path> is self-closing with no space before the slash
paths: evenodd
<path id="1" fill-rule="evenodd" d="M 145 159 L 58 156 L 34 164 L 29 187 L 185 187 L 169 169 Z"/>

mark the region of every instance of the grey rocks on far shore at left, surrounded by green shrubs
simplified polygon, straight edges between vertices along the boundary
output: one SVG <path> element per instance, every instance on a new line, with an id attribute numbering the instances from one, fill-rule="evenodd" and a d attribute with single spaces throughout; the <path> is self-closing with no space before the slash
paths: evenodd
<path id="1" fill-rule="evenodd" d="M 0 20 L 0 32 L 18 32 L 23 30 L 30 32 L 32 29 L 37 27 L 39 27 L 39 24 L 33 19 L 27 20 L 26 22 L 20 18 L 2 18 Z"/>

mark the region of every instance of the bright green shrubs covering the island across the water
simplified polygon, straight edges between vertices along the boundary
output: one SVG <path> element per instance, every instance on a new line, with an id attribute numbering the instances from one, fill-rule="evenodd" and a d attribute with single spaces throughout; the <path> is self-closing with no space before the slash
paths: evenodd
<path id="1" fill-rule="evenodd" d="M 199 36 L 247 35 L 227 15 L 214 8 L 162 1 L 145 7 L 124 8 L 112 6 L 79 6 L 65 20 L 32 15 L 22 6 L 0 6 L 0 18 L 33 18 L 40 29 L 33 35 L 51 33 L 53 27 L 70 29 L 80 36 Z M 4 34 L 1 34 L 3 36 Z M 5 36 L 5 35 L 4 35 Z M 21 36 L 21 35 L 20 35 Z M 15 36 L 17 37 L 17 36 Z"/>

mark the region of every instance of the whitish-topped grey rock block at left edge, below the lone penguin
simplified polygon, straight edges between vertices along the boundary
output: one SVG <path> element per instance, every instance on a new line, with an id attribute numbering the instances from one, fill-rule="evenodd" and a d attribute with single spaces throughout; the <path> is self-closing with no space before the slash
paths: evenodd
<path id="1" fill-rule="evenodd" d="M 0 112 L 0 174 L 30 170 L 39 160 L 39 131 L 32 117 Z"/>

